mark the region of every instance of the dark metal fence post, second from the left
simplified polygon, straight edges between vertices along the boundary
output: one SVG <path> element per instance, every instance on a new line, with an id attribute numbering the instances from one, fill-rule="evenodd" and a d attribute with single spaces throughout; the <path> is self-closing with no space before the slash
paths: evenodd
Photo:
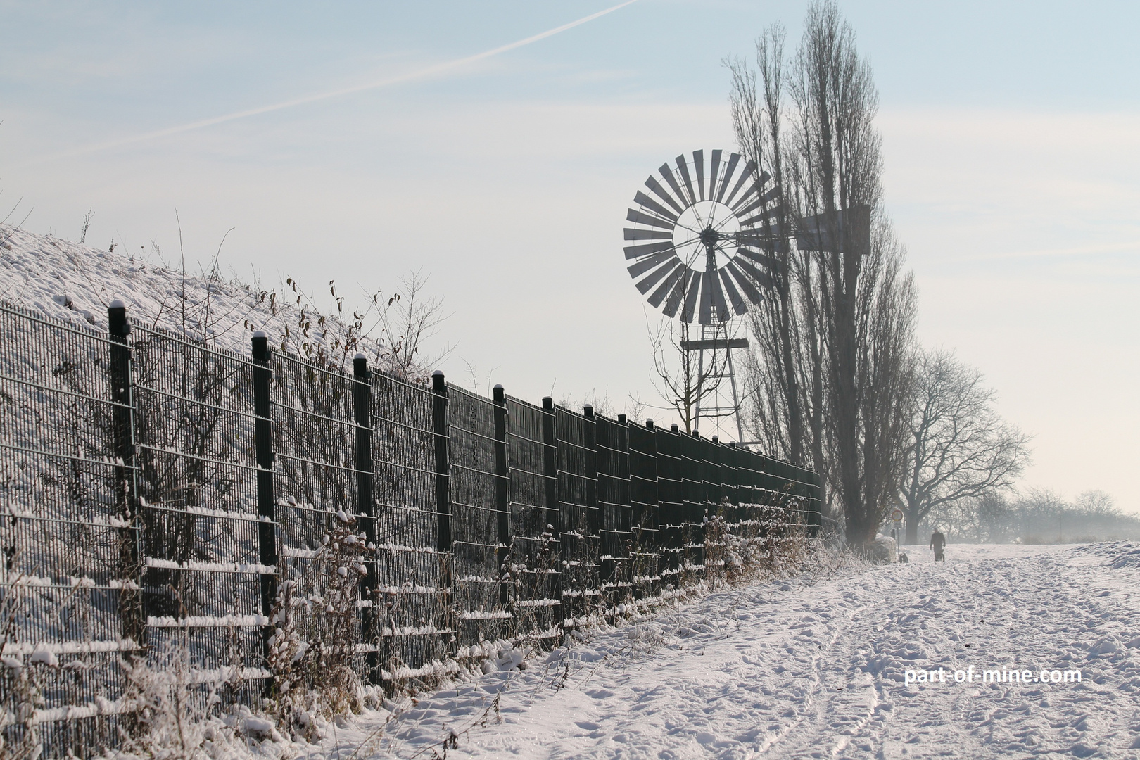
<path id="1" fill-rule="evenodd" d="M 253 438 L 258 461 L 258 551 L 262 565 L 277 567 L 277 523 L 274 514 L 274 422 L 269 383 L 269 338 L 262 330 L 253 334 Z M 261 629 L 261 646 L 266 660 L 269 659 L 269 638 L 274 634 L 272 611 L 277 599 L 276 574 L 261 574 L 261 614 L 268 624 Z M 268 684 L 267 684 L 268 686 Z"/>

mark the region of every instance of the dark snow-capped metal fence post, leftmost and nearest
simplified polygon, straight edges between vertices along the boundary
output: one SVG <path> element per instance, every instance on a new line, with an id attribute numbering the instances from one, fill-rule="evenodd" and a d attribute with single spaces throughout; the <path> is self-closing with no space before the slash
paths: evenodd
<path id="1" fill-rule="evenodd" d="M 139 499 L 135 460 L 135 400 L 131 393 L 131 333 L 127 304 L 115 299 L 107 308 L 111 334 L 111 400 L 114 420 L 115 510 L 121 521 L 119 540 L 119 616 L 123 638 L 146 644 L 142 611 L 142 551 L 139 546 Z"/>

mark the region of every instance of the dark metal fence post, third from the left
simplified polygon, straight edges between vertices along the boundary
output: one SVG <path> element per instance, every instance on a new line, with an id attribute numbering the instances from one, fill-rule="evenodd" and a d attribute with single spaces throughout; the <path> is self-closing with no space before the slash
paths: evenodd
<path id="1" fill-rule="evenodd" d="M 360 582 L 360 591 L 369 606 L 360 607 L 360 631 L 365 644 L 373 647 L 365 655 L 369 684 L 380 683 L 380 671 L 374 628 L 376 620 L 376 512 L 372 498 L 372 373 L 368 371 L 368 359 L 363 353 L 352 358 L 352 411 L 356 422 L 356 471 L 357 471 L 357 513 L 363 515 L 366 544 L 365 567 L 367 573 Z"/>

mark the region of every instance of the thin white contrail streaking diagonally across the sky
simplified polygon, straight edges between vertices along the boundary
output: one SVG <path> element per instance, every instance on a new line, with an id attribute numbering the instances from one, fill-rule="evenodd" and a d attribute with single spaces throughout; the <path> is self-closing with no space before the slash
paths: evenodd
<path id="1" fill-rule="evenodd" d="M 321 92 L 319 95 L 309 95 L 303 98 L 295 98 L 293 100 L 285 100 L 283 103 L 275 103 L 271 106 L 260 106 L 258 108 L 249 108 L 246 111 L 236 111 L 231 114 L 226 114 L 225 116 L 214 116 L 212 119 L 203 119 L 202 121 L 190 122 L 189 124 L 182 124 L 180 126 L 169 126 L 166 129 L 157 130 L 155 132 L 146 132 L 145 134 L 136 134 L 133 137 L 122 138 L 120 140 L 112 140 L 109 142 L 99 142 L 97 145 L 88 145 L 81 148 L 75 148 L 73 150 L 67 150 L 65 153 L 57 153 L 51 156 L 46 156 L 43 158 L 36 158 L 22 166 L 30 166 L 32 164 L 44 163 L 48 161 L 55 161 L 57 158 L 71 158 L 73 156 L 81 156 L 88 153 L 96 153 L 98 150 L 106 150 L 108 148 L 117 148 L 123 145 L 131 145 L 132 142 L 141 142 L 144 140 L 153 140 L 158 137 L 169 137 L 171 134 L 180 134 L 182 132 L 189 132 L 192 130 L 202 129 L 204 126 L 213 126 L 214 124 L 223 124 L 226 122 L 236 121 L 238 119 L 246 119 L 247 116 L 258 116 L 260 114 L 268 114 L 274 111 L 280 111 L 283 108 L 292 108 L 293 106 L 303 106 L 307 103 L 317 103 L 318 100 L 327 100 L 328 98 L 339 98 L 343 95 L 352 95 L 355 92 L 365 92 L 366 90 L 375 90 L 382 87 L 389 87 L 391 84 L 399 84 L 401 82 L 409 82 L 416 79 L 423 79 L 425 76 L 431 76 L 433 74 L 439 74 L 451 68 L 459 68 L 461 66 L 466 66 L 467 64 L 473 64 L 477 60 L 482 60 L 483 58 L 490 58 L 497 56 L 502 52 L 507 52 L 508 50 L 514 50 L 523 46 L 528 46 L 531 42 L 538 42 L 539 40 L 545 40 L 548 36 L 554 36 L 561 32 L 565 32 L 575 26 L 580 26 L 587 22 L 592 22 L 595 18 L 605 16 L 606 14 L 612 14 L 619 8 L 625 8 L 628 5 L 636 2 L 637 0 L 626 0 L 616 6 L 606 8 L 605 10 L 600 10 L 596 14 L 591 14 L 579 18 L 576 22 L 570 22 L 569 24 L 563 24 L 562 26 L 555 26 L 552 30 L 547 30 L 534 36 L 528 36 L 524 40 L 519 40 L 516 42 L 511 42 L 508 44 L 494 48 L 491 50 L 484 50 L 483 52 L 477 52 L 473 56 L 467 56 L 466 58 L 456 58 L 455 60 L 447 60 L 441 64 L 435 64 L 434 66 L 429 66 L 427 68 L 421 68 L 417 72 L 410 72 L 407 74 L 400 74 L 398 76 L 391 76 L 389 79 L 380 80 L 378 82 L 370 82 L 368 84 L 357 84 L 356 87 L 347 87 L 340 90 L 332 90 L 331 92 Z"/>

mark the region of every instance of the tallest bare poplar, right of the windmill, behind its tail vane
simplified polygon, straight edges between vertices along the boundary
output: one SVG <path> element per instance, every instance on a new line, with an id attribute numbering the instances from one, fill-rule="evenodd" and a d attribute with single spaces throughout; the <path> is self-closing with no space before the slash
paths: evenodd
<path id="1" fill-rule="evenodd" d="M 819 328 L 826 349 L 829 467 L 852 545 L 874 538 L 898 474 L 915 295 L 880 209 L 878 93 L 834 2 L 808 8 L 790 84 L 785 173 L 800 219 L 816 220 Z"/>

